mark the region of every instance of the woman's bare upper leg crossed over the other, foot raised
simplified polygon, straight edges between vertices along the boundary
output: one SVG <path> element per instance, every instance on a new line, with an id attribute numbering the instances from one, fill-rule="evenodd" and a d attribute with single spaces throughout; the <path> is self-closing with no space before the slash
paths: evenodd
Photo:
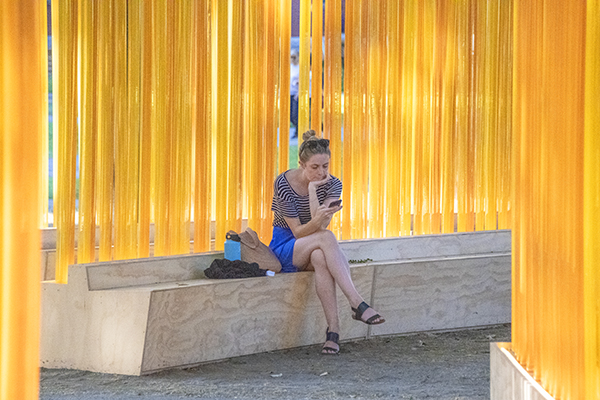
<path id="1" fill-rule="evenodd" d="M 350 306 L 353 308 L 358 307 L 363 298 L 352 282 L 348 260 L 346 260 L 337 238 L 331 231 L 319 231 L 296 240 L 296 244 L 294 245 L 294 265 L 301 267 L 309 264 L 313 251 L 317 249 L 322 251 L 329 274 L 348 299 Z M 366 321 L 375 314 L 377 312 L 369 308 L 363 313 L 362 319 Z"/>

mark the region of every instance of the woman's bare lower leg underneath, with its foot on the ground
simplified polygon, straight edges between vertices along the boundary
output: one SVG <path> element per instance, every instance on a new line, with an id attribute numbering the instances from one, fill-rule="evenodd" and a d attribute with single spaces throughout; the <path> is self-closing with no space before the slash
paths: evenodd
<path id="1" fill-rule="evenodd" d="M 335 294 L 335 280 L 327 269 L 323 251 L 320 249 L 314 250 L 310 256 L 310 264 L 315 270 L 315 289 L 323 306 L 329 331 L 339 333 L 340 320 L 338 316 L 337 296 Z M 325 342 L 323 347 L 339 349 L 339 345 L 330 341 Z"/>

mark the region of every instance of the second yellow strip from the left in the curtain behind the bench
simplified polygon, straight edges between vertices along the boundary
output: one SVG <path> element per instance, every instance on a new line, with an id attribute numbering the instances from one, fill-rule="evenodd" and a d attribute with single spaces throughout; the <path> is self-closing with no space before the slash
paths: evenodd
<path id="1" fill-rule="evenodd" d="M 96 210 L 94 178 L 96 170 L 96 36 L 97 5 L 81 1 L 81 116 L 80 116 L 80 180 L 79 238 L 77 262 L 94 262 L 96 255 Z"/>

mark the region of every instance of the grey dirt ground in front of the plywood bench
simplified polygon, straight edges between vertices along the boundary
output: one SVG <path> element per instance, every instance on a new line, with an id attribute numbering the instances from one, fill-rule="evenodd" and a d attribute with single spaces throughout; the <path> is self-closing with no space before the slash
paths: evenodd
<path id="1" fill-rule="evenodd" d="M 132 377 L 42 369 L 40 399 L 489 399 L 489 342 L 510 325 L 417 333 L 237 357 Z"/>

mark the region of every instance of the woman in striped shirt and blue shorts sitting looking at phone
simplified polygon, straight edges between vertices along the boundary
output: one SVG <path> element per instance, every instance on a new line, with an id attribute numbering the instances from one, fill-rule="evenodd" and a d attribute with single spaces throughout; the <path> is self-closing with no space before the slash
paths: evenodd
<path id="1" fill-rule="evenodd" d="M 342 209 L 342 182 L 329 174 L 329 140 L 318 138 L 313 130 L 302 138 L 300 168 L 275 179 L 273 239 L 269 247 L 281 262 L 281 272 L 315 271 L 315 288 L 328 325 L 322 353 L 338 354 L 336 284 L 350 303 L 352 318 L 369 325 L 381 324 L 385 319 L 356 290 L 348 260 L 335 235 L 327 229 L 333 214 Z"/>

